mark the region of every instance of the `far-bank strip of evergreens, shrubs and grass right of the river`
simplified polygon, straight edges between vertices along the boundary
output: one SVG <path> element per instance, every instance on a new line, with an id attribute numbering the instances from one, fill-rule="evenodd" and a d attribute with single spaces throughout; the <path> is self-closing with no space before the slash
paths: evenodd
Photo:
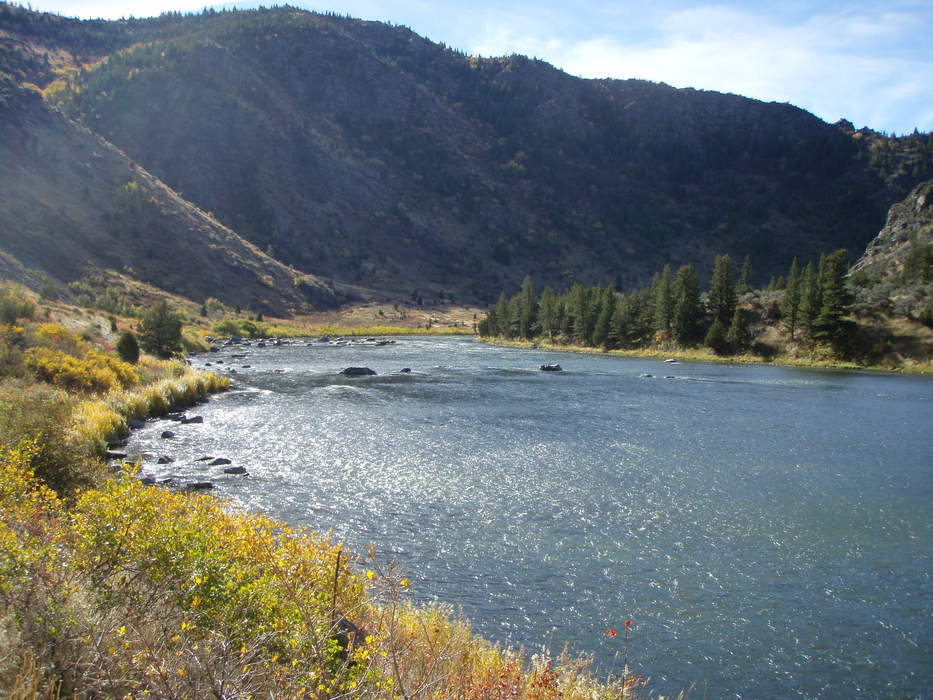
<path id="1" fill-rule="evenodd" d="M 676 274 L 667 265 L 649 287 L 627 293 L 575 284 L 537 294 L 529 277 L 515 296 L 500 295 L 479 332 L 506 342 L 695 359 L 929 369 L 928 245 L 907 252 L 896 293 L 865 272 L 850 275 L 843 249 L 802 268 L 795 258 L 787 276 L 764 289 L 752 289 L 752 274 L 750 256 L 736 280 L 732 259 L 721 255 L 702 293 L 692 264 Z M 898 347 L 895 329 L 909 335 L 909 347 Z"/>

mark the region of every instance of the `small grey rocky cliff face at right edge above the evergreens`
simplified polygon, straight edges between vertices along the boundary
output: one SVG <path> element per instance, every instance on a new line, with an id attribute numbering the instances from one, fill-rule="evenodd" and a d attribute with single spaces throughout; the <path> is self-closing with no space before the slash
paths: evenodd
<path id="1" fill-rule="evenodd" d="M 880 279 L 899 278 L 911 253 L 933 249 L 933 180 L 891 207 L 887 223 L 852 267 Z"/>

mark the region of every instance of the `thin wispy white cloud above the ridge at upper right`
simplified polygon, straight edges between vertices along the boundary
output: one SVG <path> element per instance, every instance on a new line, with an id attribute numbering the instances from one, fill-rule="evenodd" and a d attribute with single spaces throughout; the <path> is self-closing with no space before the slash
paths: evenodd
<path id="1" fill-rule="evenodd" d="M 643 78 L 790 102 L 857 126 L 933 129 L 933 61 L 909 50 L 917 26 L 903 12 L 840 10 L 787 22 L 722 5 L 695 7 L 662 19 L 649 42 L 611 27 L 576 40 L 507 21 L 494 27 L 473 50 L 502 53 L 495 49 L 508 44 L 583 77 Z"/>

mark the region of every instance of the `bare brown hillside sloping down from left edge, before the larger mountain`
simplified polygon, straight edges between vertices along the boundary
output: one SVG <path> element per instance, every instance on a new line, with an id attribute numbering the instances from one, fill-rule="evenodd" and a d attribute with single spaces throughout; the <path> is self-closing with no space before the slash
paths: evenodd
<path id="1" fill-rule="evenodd" d="M 337 303 L 125 154 L 0 76 L 0 272 L 38 287 L 112 271 L 197 301 L 288 315 Z"/>

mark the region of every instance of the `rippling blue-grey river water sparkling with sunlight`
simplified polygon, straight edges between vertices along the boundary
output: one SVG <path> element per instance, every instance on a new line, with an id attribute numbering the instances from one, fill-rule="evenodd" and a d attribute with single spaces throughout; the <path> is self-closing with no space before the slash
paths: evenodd
<path id="1" fill-rule="evenodd" d="M 146 471 L 372 542 L 490 639 L 568 642 L 618 672 L 621 632 L 604 631 L 631 619 L 630 665 L 658 692 L 933 695 L 927 378 L 462 338 L 196 364 L 217 359 L 238 388 L 174 440 L 138 431 Z M 351 365 L 379 374 L 336 375 Z"/>

